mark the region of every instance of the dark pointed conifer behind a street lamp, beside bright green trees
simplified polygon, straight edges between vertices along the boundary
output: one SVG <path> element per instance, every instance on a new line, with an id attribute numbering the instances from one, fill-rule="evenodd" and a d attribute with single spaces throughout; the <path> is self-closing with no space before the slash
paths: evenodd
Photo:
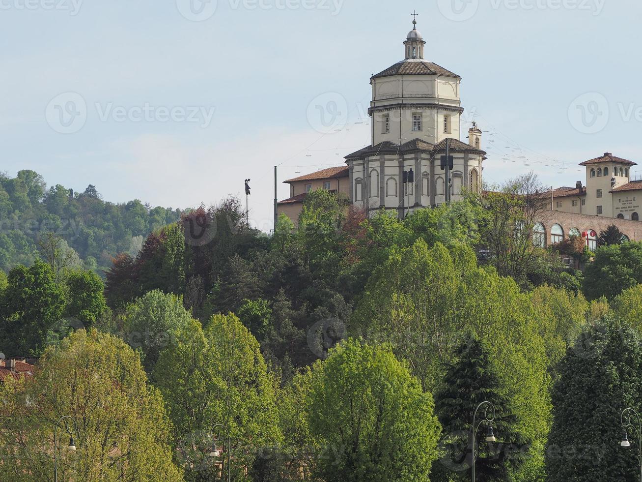
<path id="1" fill-rule="evenodd" d="M 467 481 L 473 443 L 479 451 L 475 464 L 478 481 L 515 480 L 514 474 L 528 458 L 531 441 L 518 428 L 514 404 L 506 395 L 490 352 L 473 332 L 467 332 L 455 356 L 456 361 L 446 366 L 444 388 L 435 395 L 435 412 L 444 427 L 440 445 L 450 450 L 442 449 L 445 453 L 441 464 L 433 470 L 438 475 L 431 476 L 431 480 Z M 474 411 L 485 401 L 496 409 L 492 422 L 499 440 L 496 445 L 483 441 L 485 425 L 478 431 L 476 440 L 472 438 Z M 483 420 L 483 413 L 483 409 L 478 412 L 478 421 Z"/>

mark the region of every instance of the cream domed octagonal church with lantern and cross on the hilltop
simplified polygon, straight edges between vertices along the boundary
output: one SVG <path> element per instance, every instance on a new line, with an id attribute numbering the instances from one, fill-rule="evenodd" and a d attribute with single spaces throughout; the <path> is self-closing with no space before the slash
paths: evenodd
<path id="1" fill-rule="evenodd" d="M 403 60 L 370 78 L 372 143 L 345 157 L 352 204 L 369 216 L 383 208 L 404 217 L 482 186 L 482 131 L 473 123 L 460 139 L 462 78 L 424 60 L 426 41 L 413 25 Z"/>

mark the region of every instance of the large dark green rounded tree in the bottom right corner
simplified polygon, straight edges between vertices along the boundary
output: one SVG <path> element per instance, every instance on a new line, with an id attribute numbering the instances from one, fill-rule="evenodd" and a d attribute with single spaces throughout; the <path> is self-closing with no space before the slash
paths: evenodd
<path id="1" fill-rule="evenodd" d="M 569 347 L 553 386 L 553 425 L 546 447 L 549 482 L 639 479 L 635 451 L 620 447 L 620 413 L 639 411 L 639 335 L 619 321 L 589 326 Z"/>

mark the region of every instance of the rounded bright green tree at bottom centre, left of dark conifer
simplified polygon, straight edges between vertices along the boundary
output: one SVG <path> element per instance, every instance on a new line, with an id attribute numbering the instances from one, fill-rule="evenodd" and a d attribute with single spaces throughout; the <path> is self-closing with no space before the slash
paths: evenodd
<path id="1" fill-rule="evenodd" d="M 440 428 L 433 399 L 388 347 L 345 341 L 314 368 L 309 424 L 334 481 L 426 479 Z"/>

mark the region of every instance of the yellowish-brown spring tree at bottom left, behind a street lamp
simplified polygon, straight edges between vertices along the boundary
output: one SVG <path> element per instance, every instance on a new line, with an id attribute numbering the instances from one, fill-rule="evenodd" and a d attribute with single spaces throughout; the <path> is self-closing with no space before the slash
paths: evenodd
<path id="1" fill-rule="evenodd" d="M 116 337 L 79 330 L 47 350 L 33 377 L 0 385 L 0 398 L 2 480 L 51 480 L 53 430 L 62 415 L 78 426 L 78 449 L 61 449 L 60 480 L 183 480 L 171 462 L 162 399 Z M 61 423 L 60 447 L 64 436 Z"/>

